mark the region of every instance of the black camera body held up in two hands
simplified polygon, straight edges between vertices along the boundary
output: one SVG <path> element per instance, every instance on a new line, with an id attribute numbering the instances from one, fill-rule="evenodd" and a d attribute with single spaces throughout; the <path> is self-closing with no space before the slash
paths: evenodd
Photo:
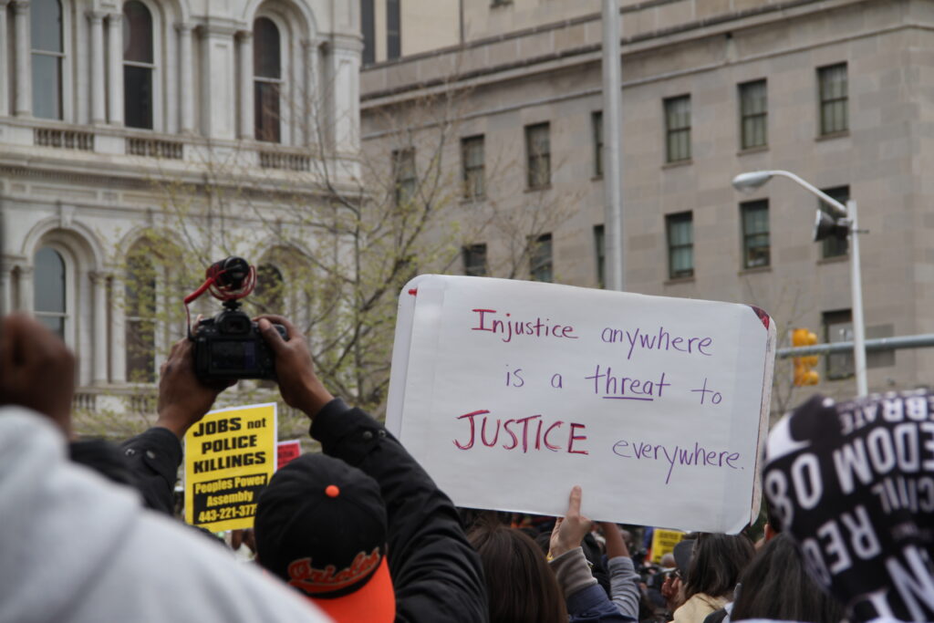
<path id="1" fill-rule="evenodd" d="M 283 340 L 286 328 L 273 324 Z M 260 327 L 239 309 L 225 309 L 198 323 L 194 334 L 194 372 L 199 378 L 236 380 L 276 378 L 276 358 Z"/>

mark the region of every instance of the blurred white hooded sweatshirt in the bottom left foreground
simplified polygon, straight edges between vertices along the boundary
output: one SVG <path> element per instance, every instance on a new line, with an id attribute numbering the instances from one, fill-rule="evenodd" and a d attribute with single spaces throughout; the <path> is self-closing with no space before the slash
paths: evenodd
<path id="1" fill-rule="evenodd" d="M 327 620 L 69 461 L 48 418 L 0 407 L 0 623 Z"/>

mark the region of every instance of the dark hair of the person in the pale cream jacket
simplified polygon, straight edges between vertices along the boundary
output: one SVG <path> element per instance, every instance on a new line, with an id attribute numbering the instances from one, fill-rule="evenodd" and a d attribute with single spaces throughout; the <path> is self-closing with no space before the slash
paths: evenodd
<path id="1" fill-rule="evenodd" d="M 742 534 L 699 534 L 685 578 L 685 599 L 698 593 L 733 596 L 733 588 L 756 549 Z"/>

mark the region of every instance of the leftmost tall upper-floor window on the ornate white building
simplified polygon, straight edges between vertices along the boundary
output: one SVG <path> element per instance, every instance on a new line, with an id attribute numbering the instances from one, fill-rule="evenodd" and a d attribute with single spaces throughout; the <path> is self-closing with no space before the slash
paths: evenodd
<path id="1" fill-rule="evenodd" d="M 62 4 L 59 0 L 34 0 L 29 4 L 29 20 L 33 46 L 33 114 L 43 119 L 62 119 Z M 0 35 L 6 37 L 7 33 Z M 7 42 L 2 45 L 6 46 Z"/>

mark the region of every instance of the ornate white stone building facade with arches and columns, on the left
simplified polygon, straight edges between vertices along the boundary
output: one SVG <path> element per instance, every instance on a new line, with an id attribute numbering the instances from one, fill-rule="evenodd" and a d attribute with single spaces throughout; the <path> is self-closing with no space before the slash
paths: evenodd
<path id="1" fill-rule="evenodd" d="M 249 191 L 301 174 L 292 191 L 324 201 L 323 164 L 338 188 L 357 176 L 359 24 L 355 1 L 0 2 L 0 309 L 74 349 L 79 409 L 148 411 L 134 381 L 182 333 L 157 327 L 149 355 L 129 352 L 127 259 L 164 223 L 165 187 L 198 195 L 199 231 L 235 223 L 236 248 L 192 241 L 205 259 L 256 262 L 276 239 L 253 233 Z M 235 189 L 220 217 L 218 189 Z"/>

